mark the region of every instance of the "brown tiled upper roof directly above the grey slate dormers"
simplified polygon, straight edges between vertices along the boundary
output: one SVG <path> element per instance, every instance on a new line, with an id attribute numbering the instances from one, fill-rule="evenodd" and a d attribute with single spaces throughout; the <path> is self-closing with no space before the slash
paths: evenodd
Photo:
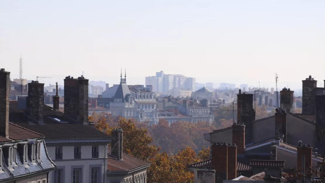
<path id="1" fill-rule="evenodd" d="M 9 123 L 9 139 L 6 137 L 0 136 L 0 143 L 2 142 L 10 142 L 11 140 L 24 140 L 24 139 L 32 139 L 32 138 L 42 138 L 44 135 L 38 134 L 26 128 L 23 128 L 19 125 Z"/>

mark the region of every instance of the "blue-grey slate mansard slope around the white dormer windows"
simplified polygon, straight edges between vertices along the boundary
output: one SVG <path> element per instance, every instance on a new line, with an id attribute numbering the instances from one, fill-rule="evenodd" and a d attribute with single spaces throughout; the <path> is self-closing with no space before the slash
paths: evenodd
<path id="1" fill-rule="evenodd" d="M 32 163 L 30 158 L 28 157 L 28 165 L 29 167 L 26 168 L 25 165 L 21 162 L 19 157 L 19 151 L 16 151 L 16 163 L 17 166 L 14 166 L 15 170 L 10 170 L 5 162 L 5 158 L 2 158 L 2 171 L 0 173 L 0 182 L 6 180 L 17 180 L 24 176 L 31 176 L 32 174 L 40 173 L 40 172 L 48 172 L 50 170 L 56 169 L 56 165 L 50 160 L 47 155 L 45 142 L 41 144 L 41 163 Z"/>

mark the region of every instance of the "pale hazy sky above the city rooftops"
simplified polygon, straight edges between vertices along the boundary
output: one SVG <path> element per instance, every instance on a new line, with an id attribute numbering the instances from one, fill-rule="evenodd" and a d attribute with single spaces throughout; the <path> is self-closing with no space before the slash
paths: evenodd
<path id="1" fill-rule="evenodd" d="M 301 88 L 325 79 L 325 1 L 76 0 L 0 1 L 0 67 L 19 77 L 80 76 L 110 84 L 126 68 L 197 82 Z"/>

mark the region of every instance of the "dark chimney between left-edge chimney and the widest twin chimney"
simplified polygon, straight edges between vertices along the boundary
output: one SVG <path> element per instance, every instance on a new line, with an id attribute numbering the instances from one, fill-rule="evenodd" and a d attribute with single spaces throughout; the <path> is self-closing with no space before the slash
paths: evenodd
<path id="1" fill-rule="evenodd" d="M 44 83 L 28 83 L 27 113 L 38 123 L 43 123 Z"/>

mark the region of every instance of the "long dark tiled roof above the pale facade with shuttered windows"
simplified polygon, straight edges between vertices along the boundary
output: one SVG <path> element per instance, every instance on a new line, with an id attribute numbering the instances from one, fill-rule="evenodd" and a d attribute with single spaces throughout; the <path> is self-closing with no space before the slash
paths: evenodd
<path id="1" fill-rule="evenodd" d="M 45 139 L 112 139 L 90 125 L 84 124 L 28 124 L 19 125 L 45 135 Z"/>

